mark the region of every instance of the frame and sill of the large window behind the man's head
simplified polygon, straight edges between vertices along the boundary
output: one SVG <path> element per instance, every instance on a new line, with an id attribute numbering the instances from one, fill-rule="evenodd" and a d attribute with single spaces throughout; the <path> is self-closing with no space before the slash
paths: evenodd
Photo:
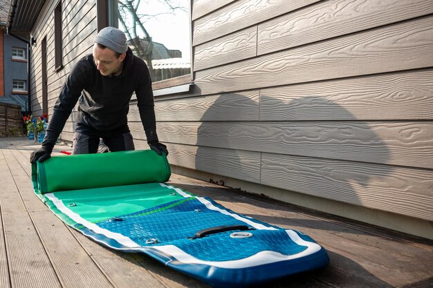
<path id="1" fill-rule="evenodd" d="M 116 14 L 113 12 L 113 5 L 116 3 L 116 0 L 97 0 L 97 10 L 98 10 L 98 31 L 107 26 L 117 27 L 118 19 L 116 18 Z M 194 61 L 193 61 L 193 48 L 192 48 L 192 3 L 188 1 L 188 11 L 189 11 L 189 41 L 190 41 L 190 73 L 186 75 L 182 75 L 179 77 L 169 78 L 162 81 L 152 81 L 152 89 L 154 92 L 160 90 L 161 93 L 155 93 L 156 95 L 167 95 L 172 94 L 173 92 L 169 91 L 177 91 L 176 93 L 187 93 L 190 92 L 192 86 L 194 86 Z M 114 19 L 116 18 L 116 19 Z M 187 84 L 190 84 L 187 86 Z M 176 88 L 177 89 L 169 89 Z"/>

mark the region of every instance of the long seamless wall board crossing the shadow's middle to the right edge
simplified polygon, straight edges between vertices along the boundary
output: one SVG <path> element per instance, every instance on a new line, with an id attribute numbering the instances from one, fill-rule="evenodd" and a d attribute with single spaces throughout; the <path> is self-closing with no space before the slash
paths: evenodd
<path id="1" fill-rule="evenodd" d="M 129 123 L 137 139 L 142 124 Z M 433 168 L 433 122 L 158 122 L 162 142 Z"/>

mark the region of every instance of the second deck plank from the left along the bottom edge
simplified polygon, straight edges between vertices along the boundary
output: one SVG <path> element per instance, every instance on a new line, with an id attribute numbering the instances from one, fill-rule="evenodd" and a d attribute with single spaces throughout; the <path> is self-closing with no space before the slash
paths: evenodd
<path id="1" fill-rule="evenodd" d="M 11 287 L 61 287 L 33 221 L 19 196 L 10 166 L 12 155 L 0 146 L 1 220 Z M 8 167 L 8 169 L 4 169 Z"/>

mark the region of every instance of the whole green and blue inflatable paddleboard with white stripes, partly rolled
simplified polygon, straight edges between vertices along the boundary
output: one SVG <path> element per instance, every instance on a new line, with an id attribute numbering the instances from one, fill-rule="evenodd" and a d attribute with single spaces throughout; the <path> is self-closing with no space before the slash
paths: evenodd
<path id="1" fill-rule="evenodd" d="M 35 193 L 66 224 L 212 287 L 248 287 L 329 264 L 303 233 L 165 184 L 169 175 L 167 158 L 154 151 L 53 156 L 33 166 Z"/>

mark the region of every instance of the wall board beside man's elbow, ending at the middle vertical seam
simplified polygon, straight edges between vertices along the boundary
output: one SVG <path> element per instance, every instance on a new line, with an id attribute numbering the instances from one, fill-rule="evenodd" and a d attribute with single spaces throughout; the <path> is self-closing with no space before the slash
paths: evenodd
<path id="1" fill-rule="evenodd" d="M 129 106 L 129 121 L 140 121 L 136 102 Z M 259 91 L 242 91 L 155 102 L 157 121 L 257 121 Z"/>

